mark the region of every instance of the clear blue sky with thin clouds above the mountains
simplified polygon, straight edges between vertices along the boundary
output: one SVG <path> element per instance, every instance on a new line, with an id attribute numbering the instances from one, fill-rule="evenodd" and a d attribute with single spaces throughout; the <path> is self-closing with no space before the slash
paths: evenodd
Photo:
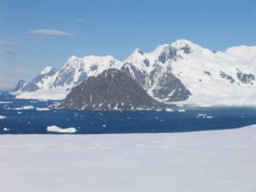
<path id="1" fill-rule="evenodd" d="M 216 50 L 256 45 L 255 0 L 0 0 L 0 90 L 71 55 L 151 51 L 186 38 Z"/>

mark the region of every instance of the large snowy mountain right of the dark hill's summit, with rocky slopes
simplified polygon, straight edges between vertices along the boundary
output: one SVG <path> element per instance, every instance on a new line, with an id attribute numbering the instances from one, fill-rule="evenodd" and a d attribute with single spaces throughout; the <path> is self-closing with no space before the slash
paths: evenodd
<path id="1" fill-rule="evenodd" d="M 216 52 L 178 40 L 150 53 L 135 49 L 119 67 L 160 102 L 256 104 L 256 47 Z"/>

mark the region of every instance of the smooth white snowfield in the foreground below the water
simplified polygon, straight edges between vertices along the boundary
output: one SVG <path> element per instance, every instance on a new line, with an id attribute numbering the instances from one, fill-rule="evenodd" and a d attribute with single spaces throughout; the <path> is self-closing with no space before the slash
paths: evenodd
<path id="1" fill-rule="evenodd" d="M 255 192 L 256 125 L 222 131 L 3 135 L 4 192 Z"/>

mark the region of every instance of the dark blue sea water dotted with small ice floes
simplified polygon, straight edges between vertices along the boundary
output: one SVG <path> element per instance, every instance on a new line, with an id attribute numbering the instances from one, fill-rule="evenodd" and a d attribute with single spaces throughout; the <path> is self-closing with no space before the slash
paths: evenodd
<path id="1" fill-rule="evenodd" d="M 185 108 L 185 112 L 38 111 L 35 108 L 45 108 L 55 101 L 15 100 L 7 93 L 0 94 L 0 115 L 7 117 L 0 119 L 0 134 L 52 134 L 47 131 L 49 125 L 75 127 L 75 134 L 102 134 L 207 131 L 256 124 L 256 108 Z M 35 108 L 17 109 L 22 106 Z M 198 117 L 200 113 L 204 116 Z"/>

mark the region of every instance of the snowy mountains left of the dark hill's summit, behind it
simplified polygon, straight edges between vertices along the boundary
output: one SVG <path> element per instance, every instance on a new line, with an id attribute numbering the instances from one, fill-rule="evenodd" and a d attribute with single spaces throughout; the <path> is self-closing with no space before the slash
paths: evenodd
<path id="1" fill-rule="evenodd" d="M 22 99 L 64 99 L 73 86 L 87 77 L 98 75 L 116 64 L 112 56 L 71 56 L 61 70 L 45 67 L 44 70 L 20 90 L 14 92 Z"/>

